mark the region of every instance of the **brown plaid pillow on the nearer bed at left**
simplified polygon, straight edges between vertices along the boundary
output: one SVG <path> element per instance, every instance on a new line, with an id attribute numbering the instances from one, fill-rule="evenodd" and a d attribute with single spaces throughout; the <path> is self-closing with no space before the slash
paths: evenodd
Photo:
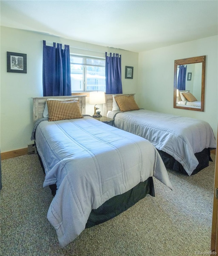
<path id="1" fill-rule="evenodd" d="M 47 99 L 46 103 L 48 106 L 48 121 L 83 118 L 78 100 Z"/>

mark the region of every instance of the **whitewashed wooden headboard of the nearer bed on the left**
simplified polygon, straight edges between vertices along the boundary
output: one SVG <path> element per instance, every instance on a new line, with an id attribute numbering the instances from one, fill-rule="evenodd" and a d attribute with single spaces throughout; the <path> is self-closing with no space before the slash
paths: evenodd
<path id="1" fill-rule="evenodd" d="M 85 114 L 85 97 L 86 95 L 79 96 L 49 96 L 49 97 L 33 97 L 33 123 L 39 118 L 43 118 L 43 111 L 45 108 L 46 100 L 49 98 L 54 99 L 74 99 L 78 98 L 79 106 L 82 114 Z"/>

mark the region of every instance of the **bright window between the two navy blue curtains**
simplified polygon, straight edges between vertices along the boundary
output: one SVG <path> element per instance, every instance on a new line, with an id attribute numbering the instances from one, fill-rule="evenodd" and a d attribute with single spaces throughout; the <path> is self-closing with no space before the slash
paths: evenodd
<path id="1" fill-rule="evenodd" d="M 70 55 L 72 92 L 105 92 L 105 59 Z"/>

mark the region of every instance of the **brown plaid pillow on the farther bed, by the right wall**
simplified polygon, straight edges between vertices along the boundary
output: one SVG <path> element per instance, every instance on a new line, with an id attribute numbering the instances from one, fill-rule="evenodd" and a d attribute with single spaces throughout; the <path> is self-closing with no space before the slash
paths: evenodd
<path id="1" fill-rule="evenodd" d="M 121 112 L 139 109 L 139 106 L 136 104 L 132 95 L 118 95 L 114 96 L 114 99 L 116 100 Z"/>

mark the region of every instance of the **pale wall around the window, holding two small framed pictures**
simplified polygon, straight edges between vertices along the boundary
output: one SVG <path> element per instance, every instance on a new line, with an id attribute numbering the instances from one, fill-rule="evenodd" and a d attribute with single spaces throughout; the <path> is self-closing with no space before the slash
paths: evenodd
<path id="1" fill-rule="evenodd" d="M 31 143 L 33 127 L 32 98 L 43 96 L 42 89 L 42 40 L 69 44 L 71 53 L 105 57 L 104 52 L 121 54 L 123 93 L 134 93 L 138 84 L 138 53 L 116 50 L 47 34 L 1 27 L 1 95 L 0 133 L 1 152 L 26 148 Z M 27 74 L 7 72 L 6 52 L 27 54 Z M 125 79 L 125 66 L 134 67 L 133 79 Z M 93 114 L 94 106 L 87 107 L 87 114 Z M 103 111 L 103 109 L 102 109 Z"/>

